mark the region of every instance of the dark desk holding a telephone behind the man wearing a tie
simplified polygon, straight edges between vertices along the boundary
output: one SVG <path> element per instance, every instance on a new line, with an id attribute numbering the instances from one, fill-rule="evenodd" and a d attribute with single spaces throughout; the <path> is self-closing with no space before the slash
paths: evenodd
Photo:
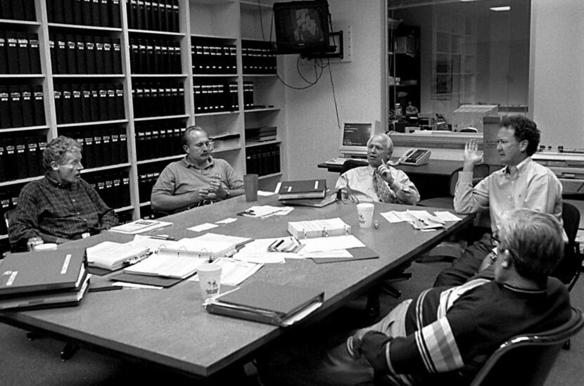
<path id="1" fill-rule="evenodd" d="M 328 169 L 329 172 L 340 173 L 343 165 L 330 165 L 322 162 L 318 167 Z M 426 165 L 397 165 L 394 167 L 410 177 L 410 180 L 418 188 L 421 200 L 426 200 L 450 195 L 450 176 L 455 170 L 462 167 L 462 161 L 430 160 Z"/>

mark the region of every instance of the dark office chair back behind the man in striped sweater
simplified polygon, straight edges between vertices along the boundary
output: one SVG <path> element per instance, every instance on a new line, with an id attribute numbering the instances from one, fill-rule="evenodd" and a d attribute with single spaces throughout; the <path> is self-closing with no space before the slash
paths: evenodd
<path id="1" fill-rule="evenodd" d="M 490 355 L 471 386 L 544 385 L 564 342 L 583 327 L 582 311 L 572 307 L 563 326 L 512 337 Z"/>

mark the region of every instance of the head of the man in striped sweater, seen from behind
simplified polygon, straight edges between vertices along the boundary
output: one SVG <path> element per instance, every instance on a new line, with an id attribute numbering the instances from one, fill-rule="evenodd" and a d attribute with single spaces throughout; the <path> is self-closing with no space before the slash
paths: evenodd
<path id="1" fill-rule="evenodd" d="M 517 273 L 544 281 L 564 256 L 561 224 L 551 214 L 517 209 L 500 226 L 500 248 L 511 251 Z"/>

